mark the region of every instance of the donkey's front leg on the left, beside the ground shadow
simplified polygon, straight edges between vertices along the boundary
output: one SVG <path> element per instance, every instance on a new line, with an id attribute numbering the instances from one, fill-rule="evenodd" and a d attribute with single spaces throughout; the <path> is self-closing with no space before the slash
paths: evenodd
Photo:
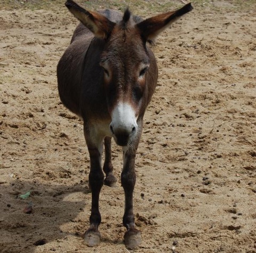
<path id="1" fill-rule="evenodd" d="M 89 133 L 85 133 L 85 139 L 87 148 L 90 153 L 91 167 L 89 173 L 89 184 L 92 191 L 92 208 L 90 216 L 90 227 L 85 231 L 84 240 L 88 246 L 93 247 L 100 242 L 100 232 L 98 230 L 98 226 L 101 223 L 99 196 L 104 180 L 104 174 L 101 169 L 103 138 L 102 140 L 99 140 L 97 143 L 95 143 L 97 136 L 93 136 L 93 138 L 91 138 Z"/>

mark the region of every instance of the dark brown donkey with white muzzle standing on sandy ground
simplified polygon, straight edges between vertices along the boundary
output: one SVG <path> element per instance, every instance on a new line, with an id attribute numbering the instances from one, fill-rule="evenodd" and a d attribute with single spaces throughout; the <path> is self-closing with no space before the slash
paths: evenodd
<path id="1" fill-rule="evenodd" d="M 187 4 L 179 10 L 142 20 L 128 9 L 124 14 L 113 10 L 94 12 L 71 0 L 66 6 L 81 23 L 58 63 L 57 77 L 62 103 L 83 119 L 90 154 L 92 206 L 84 240 L 91 247 L 99 243 L 100 190 L 103 184 L 114 186 L 117 181 L 111 164 L 113 137 L 123 147 L 124 243 L 127 248 L 134 248 L 141 243 L 133 215 L 135 155 L 143 116 L 158 77 L 156 59 L 148 44 L 153 44 L 160 32 L 193 7 Z M 101 167 L 103 143 L 105 179 Z"/>

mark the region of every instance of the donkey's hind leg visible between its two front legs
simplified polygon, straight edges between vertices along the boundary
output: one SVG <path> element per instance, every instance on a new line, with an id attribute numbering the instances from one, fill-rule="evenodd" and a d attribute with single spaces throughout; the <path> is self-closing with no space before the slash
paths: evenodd
<path id="1" fill-rule="evenodd" d="M 113 174 L 113 165 L 111 162 L 111 137 L 105 137 L 104 146 L 105 146 L 105 161 L 103 165 L 103 171 L 106 174 L 104 184 L 110 187 L 114 187 L 116 185 L 117 179 Z"/>

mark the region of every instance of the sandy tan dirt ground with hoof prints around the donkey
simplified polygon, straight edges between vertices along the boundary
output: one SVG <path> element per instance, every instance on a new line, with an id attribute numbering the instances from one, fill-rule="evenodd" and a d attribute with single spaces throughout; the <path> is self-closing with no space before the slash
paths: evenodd
<path id="1" fill-rule="evenodd" d="M 154 48 L 159 79 L 134 192 L 143 242 L 131 252 L 253 253 L 256 7 L 194 7 Z M 114 143 L 119 182 L 102 187 L 100 245 L 89 248 L 80 236 L 90 216 L 89 154 L 82 121 L 60 103 L 56 78 L 77 23 L 65 6 L 0 10 L 0 252 L 129 252 L 122 152 Z"/>

